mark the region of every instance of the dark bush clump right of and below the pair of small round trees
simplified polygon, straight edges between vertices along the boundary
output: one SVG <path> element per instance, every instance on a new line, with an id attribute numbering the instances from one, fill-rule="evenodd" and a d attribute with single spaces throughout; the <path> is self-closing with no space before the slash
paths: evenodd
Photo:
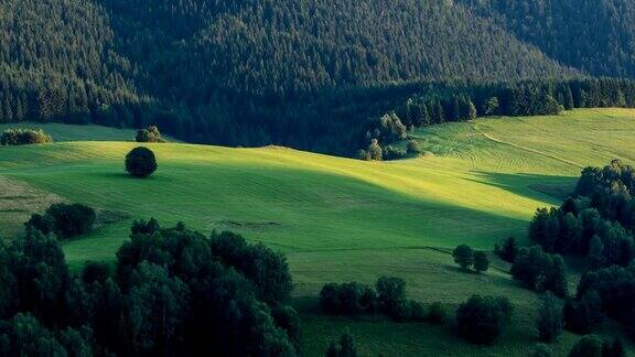
<path id="1" fill-rule="evenodd" d="M 567 296 L 567 266 L 559 255 L 542 251 L 538 246 L 521 248 L 514 259 L 512 277 L 536 291 L 551 291 Z"/>

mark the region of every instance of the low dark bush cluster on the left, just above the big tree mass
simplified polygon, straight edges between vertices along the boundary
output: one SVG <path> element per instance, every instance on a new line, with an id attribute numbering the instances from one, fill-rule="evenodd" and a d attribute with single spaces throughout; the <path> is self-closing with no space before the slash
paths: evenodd
<path id="1" fill-rule="evenodd" d="M 33 214 L 25 223 L 28 228 L 44 235 L 54 234 L 60 239 L 68 239 L 89 232 L 95 226 L 95 209 L 82 204 L 53 204 L 44 214 Z"/>

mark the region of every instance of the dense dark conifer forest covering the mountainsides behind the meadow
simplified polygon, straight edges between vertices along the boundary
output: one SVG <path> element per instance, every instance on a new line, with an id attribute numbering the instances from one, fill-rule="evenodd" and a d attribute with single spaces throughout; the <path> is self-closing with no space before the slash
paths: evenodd
<path id="1" fill-rule="evenodd" d="M 335 151 L 375 104 L 342 90 L 635 73 L 631 2 L 526 2 L 7 0 L 0 121 Z"/>

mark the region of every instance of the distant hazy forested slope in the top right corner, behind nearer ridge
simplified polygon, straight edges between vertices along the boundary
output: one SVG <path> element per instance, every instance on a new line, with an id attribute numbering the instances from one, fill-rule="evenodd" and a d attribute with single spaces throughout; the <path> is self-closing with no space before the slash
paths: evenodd
<path id="1" fill-rule="evenodd" d="M 629 0 L 459 0 L 520 41 L 591 75 L 635 75 Z"/>

